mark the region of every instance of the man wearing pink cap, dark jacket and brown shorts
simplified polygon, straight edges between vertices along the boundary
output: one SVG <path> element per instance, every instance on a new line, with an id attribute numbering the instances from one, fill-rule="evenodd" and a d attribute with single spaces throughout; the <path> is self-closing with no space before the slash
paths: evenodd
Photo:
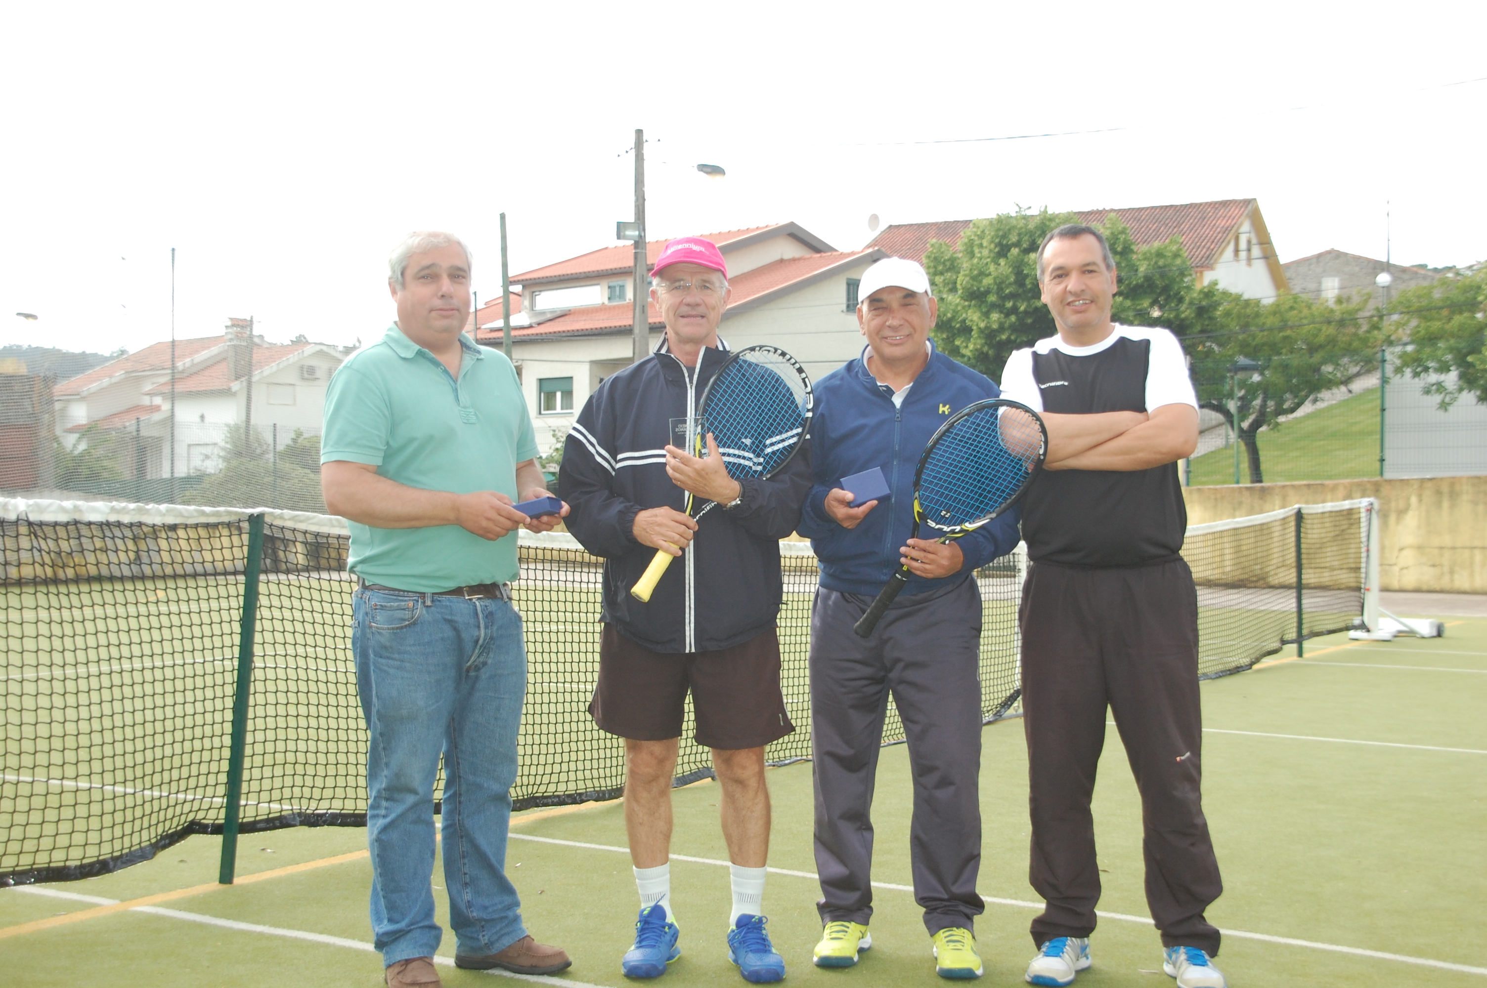
<path id="1" fill-rule="evenodd" d="M 746 981 L 779 981 L 785 963 L 761 906 L 764 746 L 794 731 L 779 688 L 779 539 L 800 521 L 810 456 L 803 449 L 779 474 L 738 481 L 711 435 L 705 458 L 674 446 L 672 420 L 696 417 L 697 398 L 727 360 L 718 339 L 729 302 L 723 254 L 702 238 L 671 241 L 651 272 L 651 300 L 665 337 L 651 357 L 593 392 L 568 434 L 558 477 L 572 507 L 568 530 L 604 557 L 599 682 L 589 713 L 625 738 L 625 826 L 641 896 L 622 970 L 656 978 L 681 954 L 671 903 L 671 787 L 690 691 L 696 741 L 712 749 L 732 862 L 729 960 Z M 718 508 L 688 517 L 687 492 Z M 629 590 L 656 550 L 681 562 L 641 603 Z"/>

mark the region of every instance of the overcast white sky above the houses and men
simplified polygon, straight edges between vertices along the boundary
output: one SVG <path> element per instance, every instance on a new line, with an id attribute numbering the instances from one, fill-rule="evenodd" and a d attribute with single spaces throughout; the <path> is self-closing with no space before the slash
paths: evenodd
<path id="1" fill-rule="evenodd" d="M 167 339 L 171 247 L 181 339 L 375 339 L 418 227 L 497 297 L 503 211 L 513 272 L 614 242 L 636 126 L 653 238 L 1257 196 L 1282 260 L 1386 202 L 1396 261 L 1487 259 L 1480 0 L 507 6 L 12 6 L 0 345 Z"/>

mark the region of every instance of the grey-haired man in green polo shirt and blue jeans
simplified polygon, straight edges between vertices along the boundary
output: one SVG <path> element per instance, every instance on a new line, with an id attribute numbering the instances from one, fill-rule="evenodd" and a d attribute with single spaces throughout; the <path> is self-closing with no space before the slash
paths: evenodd
<path id="1" fill-rule="evenodd" d="M 351 651 L 370 731 L 372 927 L 391 988 L 439 985 L 433 787 L 445 762 L 443 859 L 455 964 L 550 975 L 568 955 L 522 926 L 506 877 L 516 731 L 526 695 L 512 606 L 513 502 L 547 496 L 512 363 L 464 336 L 470 251 L 412 233 L 393 253 L 397 322 L 330 380 L 326 505 L 351 526 Z M 562 505 L 568 514 L 568 505 Z"/>

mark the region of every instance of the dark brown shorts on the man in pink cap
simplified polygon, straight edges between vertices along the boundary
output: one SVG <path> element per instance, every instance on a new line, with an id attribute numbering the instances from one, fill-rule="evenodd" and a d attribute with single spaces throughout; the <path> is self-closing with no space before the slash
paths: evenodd
<path id="1" fill-rule="evenodd" d="M 589 703 L 602 729 L 635 741 L 681 737 L 688 688 L 703 747 L 763 747 L 796 729 L 779 689 L 775 628 L 715 652 L 663 654 L 604 625 Z"/>

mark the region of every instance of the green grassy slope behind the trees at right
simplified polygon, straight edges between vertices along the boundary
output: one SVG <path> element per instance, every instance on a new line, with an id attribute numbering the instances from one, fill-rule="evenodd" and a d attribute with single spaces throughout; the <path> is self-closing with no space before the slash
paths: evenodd
<path id="1" fill-rule="evenodd" d="M 1355 480 L 1378 475 L 1378 388 L 1259 432 L 1259 465 L 1267 483 Z M 1249 461 L 1240 450 L 1240 483 Z M 1193 486 L 1234 483 L 1234 447 L 1193 461 Z"/>

